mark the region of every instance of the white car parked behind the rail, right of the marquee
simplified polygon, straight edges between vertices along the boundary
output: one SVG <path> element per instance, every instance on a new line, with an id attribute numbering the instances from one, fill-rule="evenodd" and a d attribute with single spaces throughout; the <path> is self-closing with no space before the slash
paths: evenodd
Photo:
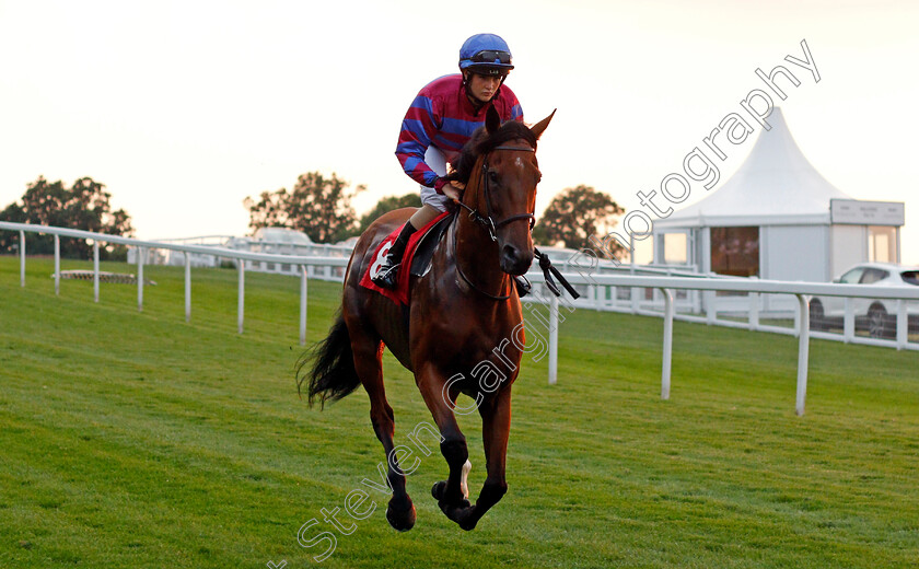
<path id="1" fill-rule="evenodd" d="M 866 287 L 919 287 L 919 267 L 893 263 L 861 263 L 844 272 L 833 282 L 864 284 Z M 856 316 L 856 329 L 868 330 L 873 338 L 896 336 L 895 300 L 850 299 Z M 908 329 L 919 328 L 919 302 L 906 305 Z M 811 299 L 811 323 L 814 329 L 842 327 L 846 299 L 842 297 L 814 297 Z"/>

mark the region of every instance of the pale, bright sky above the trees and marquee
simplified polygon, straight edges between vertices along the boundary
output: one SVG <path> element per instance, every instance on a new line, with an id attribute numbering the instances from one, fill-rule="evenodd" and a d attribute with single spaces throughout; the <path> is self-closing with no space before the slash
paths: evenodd
<path id="1" fill-rule="evenodd" d="M 417 191 L 394 155 L 402 118 L 491 32 L 526 121 L 558 108 L 537 212 L 579 184 L 638 209 L 763 89 L 757 68 L 784 65 L 804 155 L 852 198 L 905 202 L 901 260 L 919 264 L 917 26 L 915 1 L 0 0 L 0 208 L 38 176 L 90 176 L 141 239 L 243 235 L 247 196 L 321 171 L 367 185 L 361 213 Z M 818 82 L 784 59 L 802 40 Z"/>

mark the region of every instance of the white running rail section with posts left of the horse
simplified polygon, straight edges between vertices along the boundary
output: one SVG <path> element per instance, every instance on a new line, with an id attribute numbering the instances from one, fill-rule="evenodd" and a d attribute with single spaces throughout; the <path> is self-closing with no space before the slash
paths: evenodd
<path id="1" fill-rule="evenodd" d="M 0 221 L 0 230 L 18 231 L 20 234 L 20 281 L 25 287 L 25 233 L 43 233 L 55 236 L 55 294 L 60 294 L 60 237 L 74 237 L 92 241 L 93 243 L 93 299 L 98 302 L 98 244 L 113 243 L 136 247 L 137 254 L 137 307 L 143 311 L 143 266 L 144 257 L 149 251 L 167 249 L 185 254 L 185 320 L 191 320 L 191 256 L 212 255 L 218 258 L 234 259 L 239 270 L 239 287 L 236 302 L 236 323 L 239 333 L 243 333 L 245 315 L 245 274 L 246 262 L 284 263 L 300 267 L 300 344 L 306 344 L 306 293 L 307 293 L 307 267 L 346 267 L 346 257 L 319 257 L 319 256 L 291 256 L 272 255 L 267 253 L 249 253 L 231 248 L 214 247 L 210 245 L 189 245 L 182 243 L 162 243 L 156 241 L 141 241 L 118 235 L 106 235 L 104 233 L 92 233 L 74 229 L 50 228 L 45 225 L 31 225 L 25 223 L 10 223 Z"/>

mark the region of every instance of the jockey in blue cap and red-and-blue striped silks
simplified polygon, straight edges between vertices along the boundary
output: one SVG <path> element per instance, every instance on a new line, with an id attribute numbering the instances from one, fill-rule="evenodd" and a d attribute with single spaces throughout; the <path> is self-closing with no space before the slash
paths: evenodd
<path id="1" fill-rule="evenodd" d="M 405 173 L 421 185 L 421 208 L 403 227 L 372 279 L 375 284 L 396 287 L 408 237 L 446 211 L 451 200 L 460 199 L 463 185 L 444 179 L 446 163 L 454 161 L 473 132 L 485 125 L 488 107 L 493 106 L 502 121 L 523 121 L 520 102 L 503 84 L 513 68 L 503 39 L 476 34 L 460 48 L 460 73 L 428 83 L 411 102 L 396 158 Z"/>

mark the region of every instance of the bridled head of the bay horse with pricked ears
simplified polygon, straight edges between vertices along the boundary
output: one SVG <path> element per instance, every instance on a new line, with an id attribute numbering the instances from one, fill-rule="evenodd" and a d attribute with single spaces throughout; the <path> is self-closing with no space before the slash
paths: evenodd
<path id="1" fill-rule="evenodd" d="M 468 181 L 464 206 L 497 242 L 501 270 L 511 275 L 523 275 L 533 263 L 531 231 L 542 177 L 536 141 L 554 115 L 527 128 L 517 121 L 501 125 L 498 112 L 489 107 L 484 130 L 464 150 L 457 167 L 460 179 Z"/>

